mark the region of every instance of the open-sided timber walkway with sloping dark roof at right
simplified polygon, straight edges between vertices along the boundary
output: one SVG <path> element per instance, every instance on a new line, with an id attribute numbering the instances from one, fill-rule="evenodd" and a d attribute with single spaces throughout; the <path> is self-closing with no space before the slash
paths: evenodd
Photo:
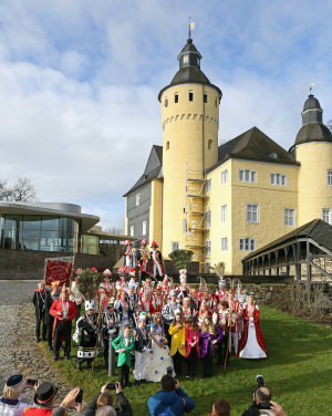
<path id="1" fill-rule="evenodd" d="M 314 219 L 245 257 L 242 270 L 246 275 L 332 281 L 332 226 Z"/>

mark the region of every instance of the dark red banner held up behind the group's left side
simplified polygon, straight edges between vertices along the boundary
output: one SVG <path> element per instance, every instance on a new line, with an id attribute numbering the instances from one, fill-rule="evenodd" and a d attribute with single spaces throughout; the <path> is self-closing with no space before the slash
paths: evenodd
<path id="1" fill-rule="evenodd" d="M 59 280 L 60 287 L 70 285 L 71 275 L 74 267 L 74 257 L 58 257 L 45 259 L 45 284 L 51 285 L 53 281 Z"/>

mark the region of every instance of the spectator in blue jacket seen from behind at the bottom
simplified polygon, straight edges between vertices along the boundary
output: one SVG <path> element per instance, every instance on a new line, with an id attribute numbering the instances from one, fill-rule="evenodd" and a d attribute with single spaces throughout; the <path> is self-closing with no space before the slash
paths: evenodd
<path id="1" fill-rule="evenodd" d="M 180 388 L 172 375 L 162 377 L 162 389 L 147 401 L 151 416 L 166 415 L 183 416 L 195 407 L 194 401 Z"/>

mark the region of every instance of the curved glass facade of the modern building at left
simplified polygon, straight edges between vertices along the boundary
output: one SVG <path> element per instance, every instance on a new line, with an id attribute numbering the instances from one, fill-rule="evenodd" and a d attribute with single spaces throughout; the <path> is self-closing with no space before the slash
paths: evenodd
<path id="1" fill-rule="evenodd" d="M 79 220 L 56 216 L 1 215 L 0 248 L 76 252 Z"/>

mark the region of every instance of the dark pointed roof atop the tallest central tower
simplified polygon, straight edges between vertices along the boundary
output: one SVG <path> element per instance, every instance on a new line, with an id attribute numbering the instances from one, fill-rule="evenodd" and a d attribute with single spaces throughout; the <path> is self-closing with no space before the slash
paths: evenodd
<path id="1" fill-rule="evenodd" d="M 217 90 L 219 98 L 221 98 L 222 93 L 218 86 L 211 84 L 208 77 L 200 69 L 201 54 L 198 52 L 197 48 L 193 43 L 193 39 L 188 38 L 187 43 L 177 56 L 179 69 L 174 75 L 169 85 L 165 86 L 158 94 L 158 100 L 160 101 L 162 94 L 172 85 L 195 83 L 195 84 L 207 84 Z"/>

